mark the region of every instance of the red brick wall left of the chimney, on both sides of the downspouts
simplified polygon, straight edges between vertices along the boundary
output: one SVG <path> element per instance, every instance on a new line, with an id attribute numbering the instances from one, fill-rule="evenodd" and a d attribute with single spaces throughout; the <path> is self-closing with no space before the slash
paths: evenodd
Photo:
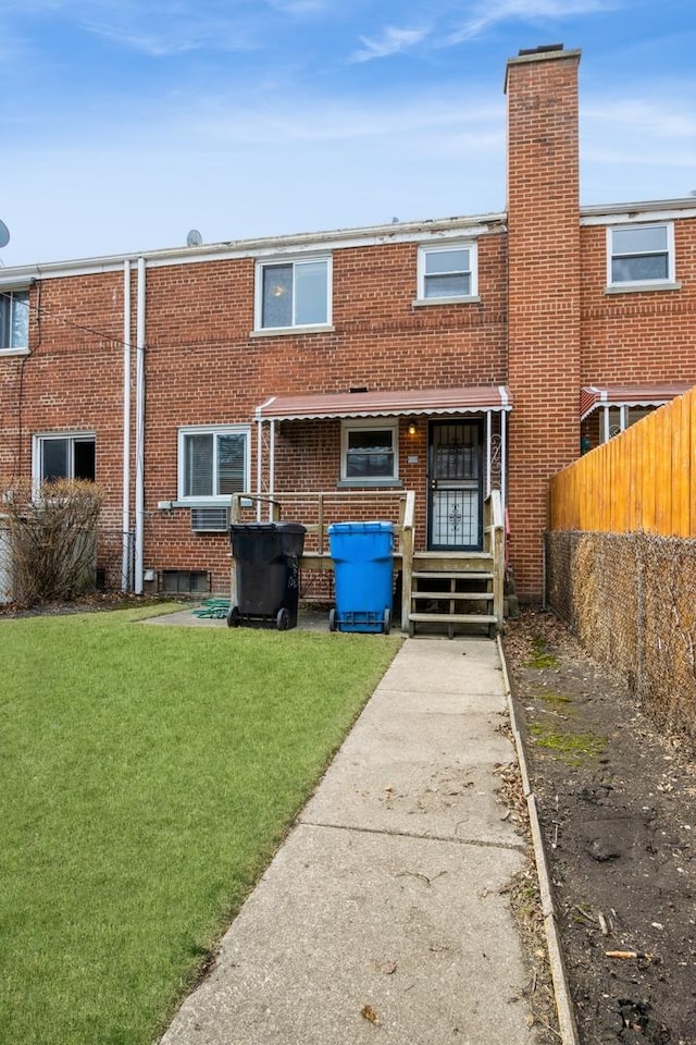
<path id="1" fill-rule="evenodd" d="M 505 381 L 504 235 L 480 239 L 481 304 L 414 308 L 417 255 L 415 243 L 335 250 L 333 331 L 277 336 L 251 336 L 253 259 L 148 268 L 146 568 L 206 569 L 215 590 L 227 585 L 226 537 L 195 534 L 188 511 L 157 507 L 177 495 L 181 426 L 250 423 L 253 408 L 272 394 Z M 32 291 L 33 306 L 40 291 L 40 322 L 34 314 L 30 355 L 0 360 L 3 475 L 29 475 L 36 432 L 94 431 L 104 519 L 115 528 L 123 477 L 123 270 L 42 280 Z M 136 288 L 134 267 L 133 340 Z M 135 453 L 135 351 L 132 367 Z M 405 425 L 401 430 L 401 477 L 422 497 L 426 425 L 412 438 Z M 335 489 L 339 432 L 337 422 L 284 426 L 278 487 Z M 414 441 L 419 464 L 408 465 Z M 252 426 L 252 485 L 256 446 Z M 424 519 L 422 513 L 423 506 Z M 424 525 L 419 532 L 423 543 Z"/>

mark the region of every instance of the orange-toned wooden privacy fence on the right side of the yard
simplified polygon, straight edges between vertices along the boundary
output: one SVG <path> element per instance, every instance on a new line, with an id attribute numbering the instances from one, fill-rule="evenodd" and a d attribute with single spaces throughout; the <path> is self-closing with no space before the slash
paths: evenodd
<path id="1" fill-rule="evenodd" d="M 696 388 L 554 476 L 549 530 L 696 537 Z"/>

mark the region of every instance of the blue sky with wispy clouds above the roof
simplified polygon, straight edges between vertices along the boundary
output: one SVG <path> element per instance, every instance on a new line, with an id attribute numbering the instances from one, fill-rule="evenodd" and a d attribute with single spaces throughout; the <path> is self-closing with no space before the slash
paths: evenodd
<path id="1" fill-rule="evenodd" d="M 2 0 L 0 261 L 502 210 L 506 59 L 560 41 L 583 202 L 696 192 L 693 0 Z"/>

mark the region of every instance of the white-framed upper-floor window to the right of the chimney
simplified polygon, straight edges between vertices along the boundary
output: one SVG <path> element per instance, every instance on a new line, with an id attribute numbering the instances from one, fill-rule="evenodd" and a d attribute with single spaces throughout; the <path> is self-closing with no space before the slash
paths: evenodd
<path id="1" fill-rule="evenodd" d="M 674 226 L 616 225 L 607 230 L 609 286 L 674 282 Z"/>

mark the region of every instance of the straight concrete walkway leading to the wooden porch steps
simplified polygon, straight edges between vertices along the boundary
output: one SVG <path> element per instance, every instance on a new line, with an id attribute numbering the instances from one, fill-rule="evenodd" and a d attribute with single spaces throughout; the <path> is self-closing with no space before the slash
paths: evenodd
<path id="1" fill-rule="evenodd" d="M 531 1045 L 506 718 L 495 642 L 408 639 L 162 1045 Z"/>

